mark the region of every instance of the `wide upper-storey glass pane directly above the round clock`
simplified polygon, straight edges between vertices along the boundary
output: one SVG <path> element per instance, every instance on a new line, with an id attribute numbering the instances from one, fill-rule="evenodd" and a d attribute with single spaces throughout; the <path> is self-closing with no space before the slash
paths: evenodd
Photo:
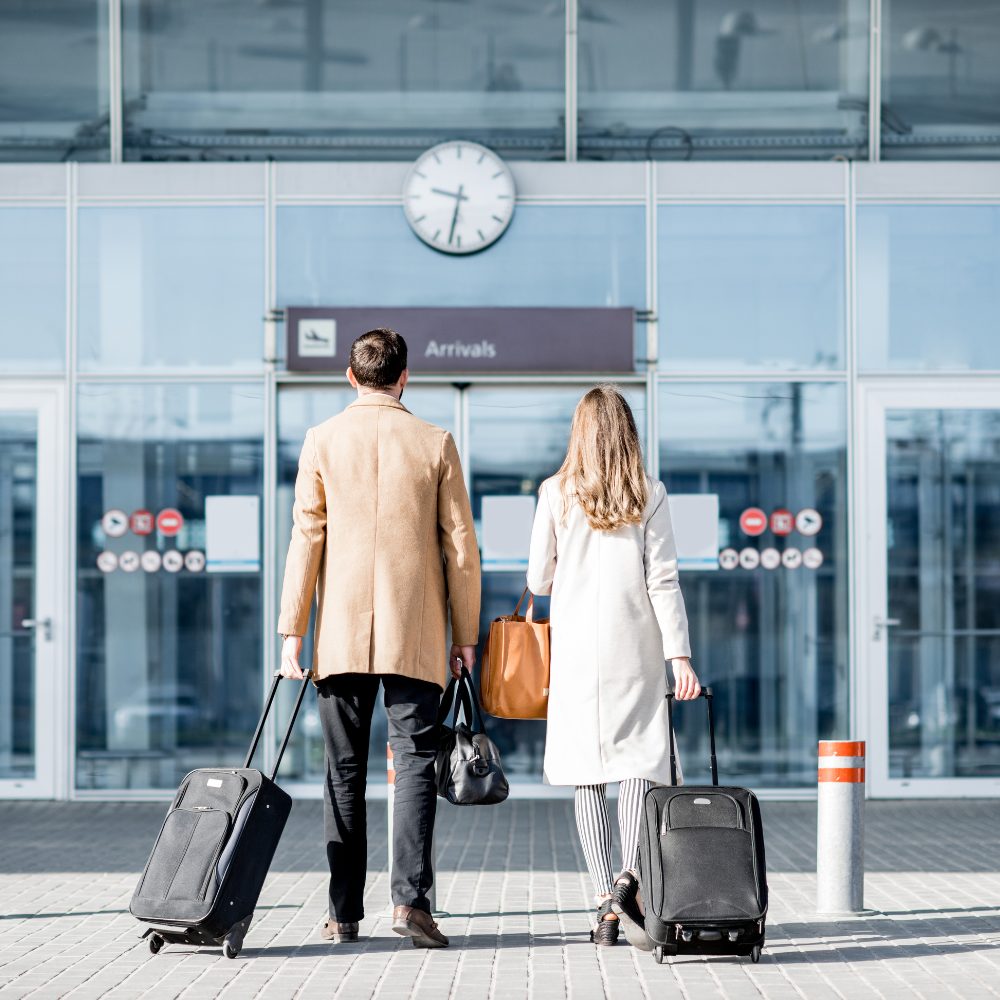
<path id="1" fill-rule="evenodd" d="M 133 159 L 561 157 L 565 14 L 491 0 L 125 0 Z"/>

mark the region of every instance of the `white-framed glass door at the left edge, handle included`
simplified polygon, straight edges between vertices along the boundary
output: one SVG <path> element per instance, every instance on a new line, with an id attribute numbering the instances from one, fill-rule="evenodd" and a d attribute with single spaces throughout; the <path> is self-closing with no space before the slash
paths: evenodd
<path id="1" fill-rule="evenodd" d="M 58 389 L 0 386 L 0 797 L 65 794 L 65 484 Z M 62 563 L 60 564 L 60 560 Z M 64 566 L 62 573 L 59 565 Z"/>

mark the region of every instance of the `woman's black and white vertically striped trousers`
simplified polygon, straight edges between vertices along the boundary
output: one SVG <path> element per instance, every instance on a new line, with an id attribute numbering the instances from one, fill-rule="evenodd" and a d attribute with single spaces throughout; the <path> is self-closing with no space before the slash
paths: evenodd
<path id="1" fill-rule="evenodd" d="M 620 871 L 639 870 L 639 828 L 642 823 L 642 800 L 652 782 L 645 778 L 627 778 L 618 788 L 618 832 L 622 843 Z M 611 869 L 611 820 L 608 816 L 607 785 L 578 785 L 574 797 L 576 828 L 583 844 L 583 856 L 598 896 L 611 894 L 614 874 Z"/>

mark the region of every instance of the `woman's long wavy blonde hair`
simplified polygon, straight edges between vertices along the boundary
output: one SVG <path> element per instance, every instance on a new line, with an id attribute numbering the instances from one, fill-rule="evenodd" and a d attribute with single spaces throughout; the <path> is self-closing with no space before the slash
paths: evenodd
<path id="1" fill-rule="evenodd" d="M 564 519 L 578 503 L 595 531 L 642 520 L 649 477 L 635 418 L 617 386 L 598 385 L 577 403 L 566 459 L 556 476 Z"/>

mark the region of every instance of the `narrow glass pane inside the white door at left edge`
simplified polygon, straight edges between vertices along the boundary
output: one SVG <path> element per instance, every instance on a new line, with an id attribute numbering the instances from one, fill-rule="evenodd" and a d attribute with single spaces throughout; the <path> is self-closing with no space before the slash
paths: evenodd
<path id="1" fill-rule="evenodd" d="M 34 414 L 0 413 L 0 779 L 35 776 L 37 441 Z"/>

